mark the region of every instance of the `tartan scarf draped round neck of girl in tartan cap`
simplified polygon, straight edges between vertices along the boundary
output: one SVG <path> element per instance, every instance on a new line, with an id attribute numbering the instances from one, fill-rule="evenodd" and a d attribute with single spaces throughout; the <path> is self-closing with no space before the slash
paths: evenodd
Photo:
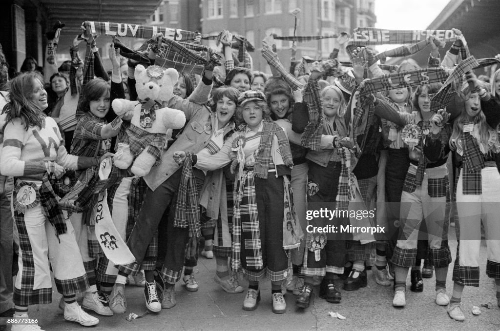
<path id="1" fill-rule="evenodd" d="M 274 122 L 264 121 L 262 135 L 258 145 L 258 152 L 255 156 L 255 164 L 253 165 L 253 171 L 258 178 L 267 178 L 269 163 L 272 163 L 271 150 L 274 135 L 278 138 L 278 149 L 281 153 L 284 164 L 288 167 L 293 166 L 290 145 L 283 129 Z"/>

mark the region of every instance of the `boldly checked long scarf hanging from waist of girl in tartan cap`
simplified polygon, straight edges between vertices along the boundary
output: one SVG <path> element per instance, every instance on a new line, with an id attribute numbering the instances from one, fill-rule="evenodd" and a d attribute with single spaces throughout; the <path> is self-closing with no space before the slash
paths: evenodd
<path id="1" fill-rule="evenodd" d="M 235 192 L 232 215 L 231 269 L 241 269 L 241 243 L 244 243 L 247 269 L 264 268 L 260 231 L 258 225 L 257 199 L 253 170 L 244 170 Z M 242 224 L 245 224 L 244 228 Z"/>

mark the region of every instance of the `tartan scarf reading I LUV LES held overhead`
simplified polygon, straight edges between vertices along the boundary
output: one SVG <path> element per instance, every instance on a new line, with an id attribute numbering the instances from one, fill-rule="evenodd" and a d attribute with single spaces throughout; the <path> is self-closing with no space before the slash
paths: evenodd
<path id="1" fill-rule="evenodd" d="M 173 29 L 163 26 L 147 26 L 141 24 L 112 23 L 84 21 L 82 24 L 89 33 L 106 35 L 123 35 L 124 37 L 151 38 L 156 33 L 162 33 L 165 38 L 173 40 L 194 40 L 196 32 Z"/>

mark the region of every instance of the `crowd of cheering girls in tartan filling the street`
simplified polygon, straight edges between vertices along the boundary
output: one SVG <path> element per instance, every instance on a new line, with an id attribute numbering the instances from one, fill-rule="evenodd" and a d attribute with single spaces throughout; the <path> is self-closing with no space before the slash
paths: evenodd
<path id="1" fill-rule="evenodd" d="M 131 124 L 114 114 L 111 103 L 125 97 L 124 88 L 130 99 L 137 98 L 136 63 L 129 60 L 120 72 L 111 44 L 108 77 L 89 36 L 97 77 L 78 79 L 82 63 L 73 48 L 69 75 L 54 73 L 47 93 L 36 61 L 26 59 L 25 72 L 5 86 L 8 95 L 2 92 L 0 116 L 2 199 L 11 200 L 18 245 L 14 316 L 26 318 L 29 305 L 51 302 L 51 271 L 64 319 L 83 326 L 99 321 L 82 308 L 101 316 L 126 312 L 129 276 L 144 286 L 148 310 L 170 309 L 181 279 L 187 291 L 198 290 L 193 268 L 203 237 L 201 255 L 215 257 L 215 284 L 234 294 L 245 291 L 243 277 L 247 280 L 246 311 L 255 310 L 264 296 L 259 287 L 264 275 L 271 282 L 272 312 L 281 314 L 287 310 L 284 293 L 296 295 L 296 306 L 307 309 L 317 285 L 320 298 L 341 303 L 341 291 L 367 286 L 368 267 L 378 285 L 393 286 L 392 306 L 404 307 L 411 268 L 410 290 L 422 292 L 421 278 L 435 272 L 435 304 L 463 321 L 463 289 L 479 285 L 481 224 L 486 275 L 494 279 L 500 307 L 500 224 L 495 218 L 500 212 L 500 70 L 490 84 L 467 72 L 452 106 L 431 111 L 440 83 L 360 99 L 354 93 L 362 92 L 370 77 L 420 69 L 411 59 L 384 72 L 369 56 L 364 63 L 361 54 L 369 51 L 358 48 L 351 54 L 353 70 L 332 78 L 327 73 L 337 62 L 319 61 L 310 68 L 292 63 L 290 72 L 263 41 L 262 55 L 272 71 L 268 76 L 250 71 L 249 56 L 235 66 L 230 40 L 224 31 L 224 77 L 214 76 L 210 63 L 198 79 L 179 73 L 164 105 L 184 112 L 186 123 L 172 132 L 160 151 L 161 162 L 144 177 L 113 166 L 113 180 L 99 188 L 107 190 L 113 221 L 134 257 L 128 265 L 115 266 L 102 253 L 90 212 L 68 216 L 58 202 L 71 192 L 75 178 L 89 183 L 100 162 L 124 148 L 123 134 Z M 430 44 L 429 64 L 439 65 L 437 48 Z M 452 69 L 461 47 L 461 40 L 455 41 L 442 66 Z M 153 59 L 154 50 L 148 56 Z M 356 115 L 353 109 L 361 104 L 373 111 Z M 353 124 L 355 116 L 361 124 Z M 12 177 L 12 194 L 3 195 Z M 93 189 L 89 205 L 96 203 Z M 186 207 L 193 196 L 199 213 Z M 387 202 L 383 212 L 356 225 L 384 224 L 387 236 L 331 238 L 306 232 L 309 224 L 356 222 L 349 217 L 308 222 L 307 209 L 350 209 L 360 203 L 367 210 L 380 202 Z M 2 208 L 2 218 L 5 213 L 10 211 Z M 452 291 L 446 287 L 453 261 L 450 219 L 459 242 Z M 103 242 L 111 241 L 103 236 Z M 81 306 L 75 301 L 78 293 Z M 2 314 L 7 309 L 2 306 Z M 12 330 L 41 329 L 31 324 Z"/>

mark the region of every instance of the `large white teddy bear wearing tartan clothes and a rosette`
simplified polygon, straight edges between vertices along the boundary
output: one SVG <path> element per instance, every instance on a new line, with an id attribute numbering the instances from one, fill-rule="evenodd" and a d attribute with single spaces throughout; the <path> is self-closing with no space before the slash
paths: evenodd
<path id="1" fill-rule="evenodd" d="M 136 156 L 130 170 L 142 177 L 161 161 L 168 129 L 182 128 L 186 118 L 182 111 L 166 107 L 179 77 L 177 70 L 157 65 L 146 69 L 138 64 L 134 74 L 137 101 L 114 99 L 112 102 L 116 115 L 130 120 L 126 135 L 118 135 L 118 151 L 113 163 L 120 169 L 127 169 Z"/>

